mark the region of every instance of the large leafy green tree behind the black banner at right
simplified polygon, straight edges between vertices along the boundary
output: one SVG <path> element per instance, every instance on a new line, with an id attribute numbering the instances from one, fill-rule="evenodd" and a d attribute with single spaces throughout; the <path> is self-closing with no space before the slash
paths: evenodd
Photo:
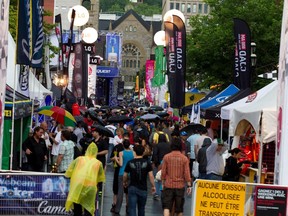
<path id="1" fill-rule="evenodd" d="M 276 69 L 281 32 L 283 2 L 271 0 L 206 0 L 211 8 L 207 16 L 192 16 L 193 30 L 187 36 L 187 79 L 200 80 L 200 87 L 233 83 L 233 18 L 250 26 L 251 41 L 257 44 L 257 65 L 253 88 L 263 83 L 257 74 Z"/>

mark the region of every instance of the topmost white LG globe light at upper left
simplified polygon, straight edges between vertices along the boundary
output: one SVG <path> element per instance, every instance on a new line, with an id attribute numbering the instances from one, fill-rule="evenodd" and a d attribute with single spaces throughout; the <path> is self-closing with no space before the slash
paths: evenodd
<path id="1" fill-rule="evenodd" d="M 74 26 L 83 26 L 85 25 L 89 20 L 89 12 L 88 10 L 81 6 L 81 5 L 75 5 L 68 11 L 68 20 L 71 22 L 71 15 L 72 10 L 75 10 L 75 19 L 74 19 Z"/>

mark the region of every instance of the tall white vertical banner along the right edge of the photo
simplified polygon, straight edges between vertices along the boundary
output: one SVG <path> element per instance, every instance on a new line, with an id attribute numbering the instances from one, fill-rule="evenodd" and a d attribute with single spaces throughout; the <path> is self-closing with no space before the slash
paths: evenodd
<path id="1" fill-rule="evenodd" d="M 278 124 L 274 183 L 288 184 L 288 0 L 284 1 L 278 71 Z"/>

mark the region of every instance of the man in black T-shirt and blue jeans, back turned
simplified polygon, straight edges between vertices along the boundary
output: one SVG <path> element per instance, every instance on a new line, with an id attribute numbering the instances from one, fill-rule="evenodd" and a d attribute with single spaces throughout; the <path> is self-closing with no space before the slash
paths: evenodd
<path id="1" fill-rule="evenodd" d="M 151 163 L 143 158 L 144 147 L 142 145 L 134 146 L 136 156 L 127 163 L 123 175 L 123 185 L 128 186 L 128 175 L 130 175 L 130 183 L 128 186 L 129 197 L 129 216 L 136 216 L 138 208 L 138 216 L 145 215 L 145 205 L 147 201 L 147 176 L 149 176 L 152 185 L 151 192 L 155 193 L 154 176 Z"/>

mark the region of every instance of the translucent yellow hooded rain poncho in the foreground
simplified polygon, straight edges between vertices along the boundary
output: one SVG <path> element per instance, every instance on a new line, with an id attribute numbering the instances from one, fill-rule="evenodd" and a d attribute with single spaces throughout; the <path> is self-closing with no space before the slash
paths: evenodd
<path id="1" fill-rule="evenodd" d="M 88 146 L 85 156 L 72 161 L 66 171 L 65 176 L 71 178 L 66 211 L 74 207 L 73 203 L 78 203 L 94 215 L 97 184 L 105 181 L 102 163 L 96 159 L 97 153 L 98 148 L 93 142 Z"/>

